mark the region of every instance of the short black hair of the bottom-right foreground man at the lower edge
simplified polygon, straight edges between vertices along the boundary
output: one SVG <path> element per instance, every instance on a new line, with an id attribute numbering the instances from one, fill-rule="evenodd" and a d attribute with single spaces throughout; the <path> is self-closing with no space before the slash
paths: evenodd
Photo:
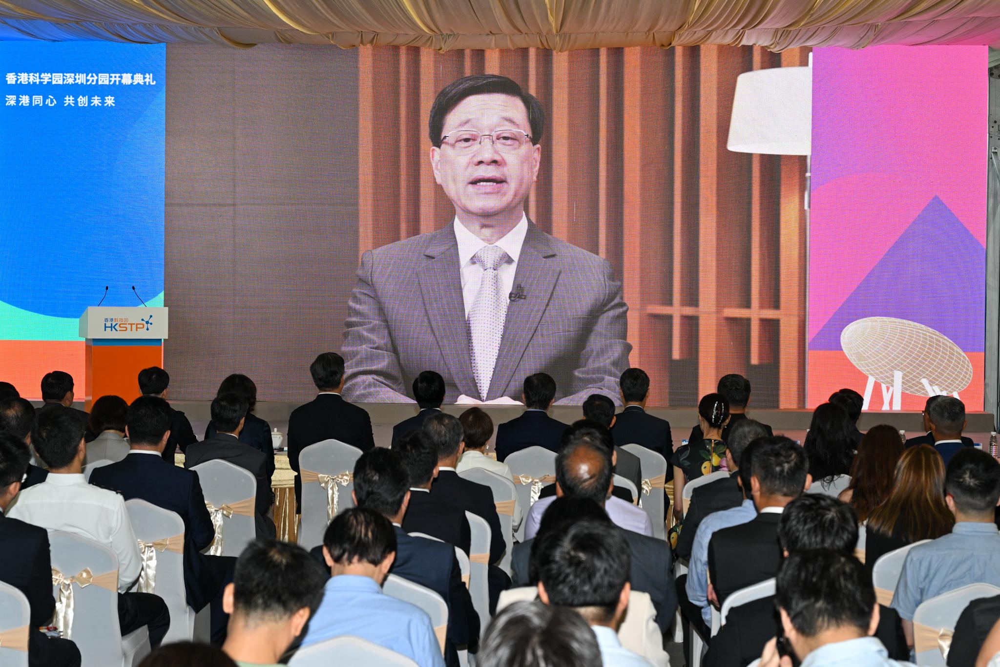
<path id="1" fill-rule="evenodd" d="M 775 604 L 805 637 L 842 627 L 868 634 L 875 589 L 853 556 L 823 550 L 791 554 L 778 570 L 775 588 Z"/>

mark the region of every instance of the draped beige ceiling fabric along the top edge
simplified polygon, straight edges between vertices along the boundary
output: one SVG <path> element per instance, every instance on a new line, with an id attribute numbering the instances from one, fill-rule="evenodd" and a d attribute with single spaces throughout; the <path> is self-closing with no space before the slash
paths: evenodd
<path id="1" fill-rule="evenodd" d="M 0 0 L 0 40 L 537 47 L 1000 45 L 998 0 Z"/>

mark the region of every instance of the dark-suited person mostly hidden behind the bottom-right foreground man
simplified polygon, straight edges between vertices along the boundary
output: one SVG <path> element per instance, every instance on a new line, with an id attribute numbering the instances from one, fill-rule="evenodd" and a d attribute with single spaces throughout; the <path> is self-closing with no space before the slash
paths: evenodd
<path id="1" fill-rule="evenodd" d="M 778 542 L 785 558 L 825 551 L 852 556 L 858 541 L 857 515 L 839 500 L 823 494 L 803 494 L 791 503 L 778 524 Z M 726 624 L 712 638 L 705 667 L 743 667 L 760 657 L 767 641 L 778 634 L 781 619 L 774 596 L 733 607 Z M 906 636 L 894 610 L 879 605 L 875 637 L 898 660 L 909 658 Z"/>

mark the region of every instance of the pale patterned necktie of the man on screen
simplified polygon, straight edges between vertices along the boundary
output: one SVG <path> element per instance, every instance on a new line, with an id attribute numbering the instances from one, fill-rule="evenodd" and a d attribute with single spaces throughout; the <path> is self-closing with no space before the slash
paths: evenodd
<path id="1" fill-rule="evenodd" d="M 469 311 L 469 352 L 472 357 L 472 374 L 479 388 L 479 396 L 485 400 L 493 377 L 493 366 L 500 351 L 503 338 L 503 323 L 507 317 L 507 295 L 500 285 L 500 265 L 507 261 L 507 253 L 502 248 L 488 245 L 479 249 L 472 257 L 483 267 L 483 277 L 479 282 L 476 300 Z"/>

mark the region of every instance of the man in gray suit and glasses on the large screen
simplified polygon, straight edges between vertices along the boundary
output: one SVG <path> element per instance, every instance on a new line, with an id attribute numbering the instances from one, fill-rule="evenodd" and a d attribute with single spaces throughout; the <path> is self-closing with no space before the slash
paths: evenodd
<path id="1" fill-rule="evenodd" d="M 512 402 L 546 372 L 557 402 L 618 400 L 628 368 L 628 306 L 602 258 L 552 237 L 524 213 L 541 162 L 541 104 L 497 75 L 452 82 L 430 114 L 434 178 L 451 224 L 366 252 L 351 294 L 344 396 L 412 402 L 421 371 L 448 402 Z"/>

